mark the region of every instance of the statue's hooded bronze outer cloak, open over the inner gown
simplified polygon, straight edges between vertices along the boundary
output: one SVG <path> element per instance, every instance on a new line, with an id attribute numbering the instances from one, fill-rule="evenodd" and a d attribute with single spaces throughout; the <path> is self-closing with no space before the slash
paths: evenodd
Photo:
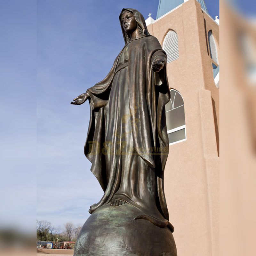
<path id="1" fill-rule="evenodd" d="M 128 60 L 129 97 L 127 99 L 131 113 L 133 146 L 136 153 L 145 161 L 148 167 L 156 172 L 157 208 L 163 219 L 169 220 L 164 196 L 164 167 L 169 151 L 164 106 L 170 100 L 170 91 L 166 67 L 164 66 L 159 72 L 152 70 L 156 60 L 163 59 L 166 63 L 166 53 L 162 50 L 156 37 L 149 35 L 145 20 L 140 12 L 134 9 L 125 10 L 134 14 L 137 23 L 143 29 L 143 36 L 132 41 L 127 40 L 127 34 L 123 30 L 126 45 L 131 42 L 133 44 L 129 51 Z M 120 17 L 121 15 L 122 12 Z M 110 181 L 116 175 L 114 171 L 106 169 L 104 143 L 108 99 L 122 51 L 116 57 L 113 67 L 105 79 L 87 90 L 90 95 L 91 118 L 84 153 L 92 163 L 92 173 L 105 192 L 100 203 L 91 207 L 91 213 L 109 202 Z M 113 111 L 118 111 L 118 109 L 113 109 Z"/>

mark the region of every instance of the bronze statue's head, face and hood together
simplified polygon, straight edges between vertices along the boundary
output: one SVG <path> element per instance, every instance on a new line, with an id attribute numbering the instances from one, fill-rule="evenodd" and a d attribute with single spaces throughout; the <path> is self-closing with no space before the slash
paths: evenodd
<path id="1" fill-rule="evenodd" d="M 150 36 L 143 15 L 135 10 L 124 8 L 119 16 L 125 44 L 131 41 L 130 34 L 138 29 L 141 36 Z"/>

